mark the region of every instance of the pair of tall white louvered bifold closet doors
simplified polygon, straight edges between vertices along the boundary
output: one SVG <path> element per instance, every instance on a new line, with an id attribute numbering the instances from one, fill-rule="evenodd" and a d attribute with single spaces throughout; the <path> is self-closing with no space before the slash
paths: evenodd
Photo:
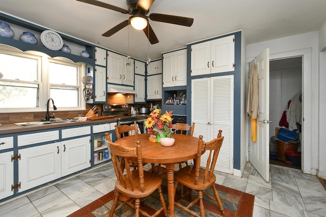
<path id="1" fill-rule="evenodd" d="M 215 170 L 233 173 L 233 75 L 192 80 L 192 121 L 196 123 L 194 136 L 203 135 L 204 141 L 223 131 Z M 202 162 L 207 158 L 204 153 Z"/>

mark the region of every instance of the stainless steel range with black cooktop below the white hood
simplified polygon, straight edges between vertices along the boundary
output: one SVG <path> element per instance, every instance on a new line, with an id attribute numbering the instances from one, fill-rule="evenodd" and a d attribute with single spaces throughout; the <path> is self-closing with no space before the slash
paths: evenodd
<path id="1" fill-rule="evenodd" d="M 145 126 L 146 115 L 130 114 L 128 105 L 102 105 L 102 115 L 114 115 L 117 117 L 117 125 L 132 125 L 133 121 L 137 121 L 137 124 L 141 130 L 141 133 L 146 133 Z"/>

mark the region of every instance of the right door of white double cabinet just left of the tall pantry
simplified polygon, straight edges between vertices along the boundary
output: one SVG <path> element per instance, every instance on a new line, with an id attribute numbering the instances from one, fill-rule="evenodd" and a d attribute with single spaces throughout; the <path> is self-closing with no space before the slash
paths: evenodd
<path id="1" fill-rule="evenodd" d="M 187 50 L 175 51 L 174 86 L 187 85 Z"/>

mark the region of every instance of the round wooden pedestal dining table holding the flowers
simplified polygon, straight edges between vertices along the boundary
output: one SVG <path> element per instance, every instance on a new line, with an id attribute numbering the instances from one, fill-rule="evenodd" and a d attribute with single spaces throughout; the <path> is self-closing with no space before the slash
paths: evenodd
<path id="1" fill-rule="evenodd" d="M 174 145 L 170 147 L 162 146 L 159 142 L 150 142 L 149 135 L 136 134 L 126 136 L 117 140 L 115 143 L 125 147 L 135 147 L 136 140 L 139 140 L 142 147 L 143 163 L 166 165 L 168 180 L 169 213 L 174 215 L 174 165 L 196 158 L 199 138 L 173 134 Z M 135 159 L 136 160 L 136 159 Z"/>

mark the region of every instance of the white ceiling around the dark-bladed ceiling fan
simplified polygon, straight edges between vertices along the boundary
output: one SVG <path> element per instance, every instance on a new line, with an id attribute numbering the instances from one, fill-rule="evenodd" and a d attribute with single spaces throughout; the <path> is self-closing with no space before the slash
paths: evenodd
<path id="1" fill-rule="evenodd" d="M 124 0 L 101 1 L 127 9 Z M 101 36 L 130 15 L 75 0 L 1 0 L 0 10 L 145 61 L 148 53 L 157 59 L 162 52 L 237 30 L 252 44 L 319 30 L 326 20 L 326 0 L 156 0 L 149 14 L 192 17 L 194 24 L 185 27 L 149 20 L 159 40 L 151 45 L 143 30 L 130 25 L 111 37 Z"/>

